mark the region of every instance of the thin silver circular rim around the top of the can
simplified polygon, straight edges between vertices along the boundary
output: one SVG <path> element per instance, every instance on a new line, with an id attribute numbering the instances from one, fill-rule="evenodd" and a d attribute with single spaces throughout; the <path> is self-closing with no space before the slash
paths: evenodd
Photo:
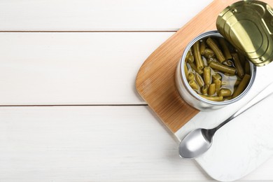
<path id="1" fill-rule="evenodd" d="M 180 62 L 181 62 L 180 77 L 183 79 L 182 83 L 186 87 L 186 90 L 193 97 L 195 97 L 196 99 L 201 100 L 204 103 L 211 104 L 211 105 L 214 105 L 214 106 L 225 106 L 225 105 L 237 102 L 237 101 L 239 101 L 239 99 L 244 97 L 244 95 L 248 92 L 248 90 L 250 90 L 250 88 L 253 85 L 253 82 L 255 80 L 256 66 L 252 62 L 250 62 L 250 65 L 252 67 L 252 69 L 251 69 L 252 70 L 251 80 L 249 80 L 249 83 L 248 83 L 246 89 L 243 92 L 241 92 L 241 94 L 239 94 L 237 97 L 235 97 L 233 99 L 226 100 L 226 101 L 221 101 L 221 102 L 215 102 L 215 101 L 211 101 L 211 100 L 208 100 L 208 99 L 204 99 L 203 97 L 200 97 L 188 84 L 188 80 L 186 79 L 186 74 L 185 74 L 185 71 L 184 71 L 184 64 L 185 64 L 186 54 L 187 54 L 188 50 L 190 50 L 190 48 L 193 46 L 193 44 L 196 41 L 199 41 L 200 39 L 205 38 L 207 36 L 218 36 L 218 37 L 224 38 L 217 30 L 212 30 L 212 31 L 206 31 L 206 32 L 200 34 L 199 36 L 196 36 L 195 38 L 193 38 L 192 41 L 190 41 L 190 43 L 188 43 L 188 45 L 186 46 L 185 50 L 183 51 L 183 55 L 182 55 L 182 57 L 180 59 Z"/>

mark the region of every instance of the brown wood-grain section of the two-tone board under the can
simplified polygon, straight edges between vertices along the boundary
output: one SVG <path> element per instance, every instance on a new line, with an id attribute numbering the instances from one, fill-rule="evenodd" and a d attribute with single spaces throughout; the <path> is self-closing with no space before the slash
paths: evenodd
<path id="1" fill-rule="evenodd" d="M 215 30 L 218 14 L 234 2 L 235 0 L 213 1 L 160 45 L 139 70 L 136 80 L 137 91 L 172 132 L 179 130 L 199 112 L 183 102 L 174 85 L 176 65 L 183 50 L 195 36 Z"/>

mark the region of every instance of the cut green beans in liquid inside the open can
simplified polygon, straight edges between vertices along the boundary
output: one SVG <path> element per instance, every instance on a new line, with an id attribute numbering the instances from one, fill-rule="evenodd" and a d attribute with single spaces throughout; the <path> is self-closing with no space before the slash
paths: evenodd
<path id="1" fill-rule="evenodd" d="M 186 77 L 189 85 L 205 99 L 221 102 L 235 98 L 249 83 L 251 76 L 247 73 L 250 71 L 244 70 L 250 69 L 244 66 L 246 59 L 240 61 L 236 50 L 224 38 L 209 36 L 200 39 L 193 44 L 193 50 L 190 48 L 187 55 L 194 55 L 193 59 L 186 59 L 184 63 L 188 70 Z M 193 64 L 196 67 L 193 68 Z M 202 76 L 198 72 L 203 72 Z"/>

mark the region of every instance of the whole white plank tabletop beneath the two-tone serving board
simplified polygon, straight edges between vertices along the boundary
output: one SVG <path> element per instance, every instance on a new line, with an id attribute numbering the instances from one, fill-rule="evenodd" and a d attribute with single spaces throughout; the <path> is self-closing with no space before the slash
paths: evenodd
<path id="1" fill-rule="evenodd" d="M 210 2 L 1 0 L 0 181 L 212 181 L 134 88 Z M 272 181 L 272 168 L 241 181 Z"/>

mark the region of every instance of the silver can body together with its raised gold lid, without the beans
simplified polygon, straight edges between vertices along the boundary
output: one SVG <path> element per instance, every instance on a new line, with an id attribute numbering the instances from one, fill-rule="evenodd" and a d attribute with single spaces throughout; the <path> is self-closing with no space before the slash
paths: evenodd
<path id="1" fill-rule="evenodd" d="M 176 88 L 179 94 L 190 106 L 200 111 L 220 109 L 237 102 L 251 89 L 255 80 L 256 66 L 264 66 L 273 60 L 273 9 L 267 3 L 262 1 L 233 3 L 218 15 L 216 27 L 218 31 L 205 32 L 188 43 L 175 73 Z M 188 75 L 184 69 L 187 53 L 197 41 L 209 37 L 225 38 L 234 50 L 246 57 L 246 62 L 250 62 L 248 73 L 250 79 L 244 90 L 236 97 L 231 96 L 230 99 L 221 101 L 207 99 L 194 90 L 188 82 Z"/>

